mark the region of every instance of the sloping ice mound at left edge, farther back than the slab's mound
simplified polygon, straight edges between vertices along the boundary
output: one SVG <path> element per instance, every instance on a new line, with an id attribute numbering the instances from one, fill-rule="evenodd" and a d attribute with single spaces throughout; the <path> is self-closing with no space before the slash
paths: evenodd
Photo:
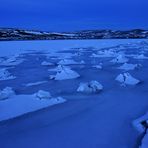
<path id="1" fill-rule="evenodd" d="M 12 76 L 9 71 L 5 68 L 0 69 L 0 80 L 11 80 L 15 79 L 15 76 Z"/>

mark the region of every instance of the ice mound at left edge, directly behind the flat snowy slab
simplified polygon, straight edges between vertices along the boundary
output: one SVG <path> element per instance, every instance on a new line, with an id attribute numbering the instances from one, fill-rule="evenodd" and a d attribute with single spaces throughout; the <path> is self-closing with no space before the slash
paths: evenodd
<path id="1" fill-rule="evenodd" d="M 15 92 L 11 87 L 6 87 L 3 90 L 0 90 L 0 100 L 5 100 L 13 95 L 15 95 Z"/>

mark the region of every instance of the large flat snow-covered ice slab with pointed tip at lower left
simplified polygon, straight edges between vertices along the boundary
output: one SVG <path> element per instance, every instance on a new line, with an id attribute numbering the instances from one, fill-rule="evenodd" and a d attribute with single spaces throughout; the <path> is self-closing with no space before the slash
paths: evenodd
<path id="1" fill-rule="evenodd" d="M 34 94 L 14 95 L 11 99 L 0 101 L 0 121 L 12 119 L 65 101 L 62 97 L 39 99 Z"/>

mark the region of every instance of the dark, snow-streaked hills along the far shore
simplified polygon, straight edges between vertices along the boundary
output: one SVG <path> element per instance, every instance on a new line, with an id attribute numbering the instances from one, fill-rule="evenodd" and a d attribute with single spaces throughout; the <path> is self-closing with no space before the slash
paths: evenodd
<path id="1" fill-rule="evenodd" d="M 0 40 L 58 40 L 58 39 L 126 39 L 148 38 L 148 30 L 85 30 L 75 32 L 47 32 L 1 28 Z"/>

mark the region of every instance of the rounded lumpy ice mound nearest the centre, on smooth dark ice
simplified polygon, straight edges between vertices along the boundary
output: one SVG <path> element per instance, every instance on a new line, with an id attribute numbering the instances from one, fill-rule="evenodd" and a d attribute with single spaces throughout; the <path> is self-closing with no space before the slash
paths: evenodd
<path id="1" fill-rule="evenodd" d="M 90 81 L 86 83 L 80 83 L 77 91 L 82 93 L 99 93 L 103 89 L 103 86 L 97 81 Z"/>

